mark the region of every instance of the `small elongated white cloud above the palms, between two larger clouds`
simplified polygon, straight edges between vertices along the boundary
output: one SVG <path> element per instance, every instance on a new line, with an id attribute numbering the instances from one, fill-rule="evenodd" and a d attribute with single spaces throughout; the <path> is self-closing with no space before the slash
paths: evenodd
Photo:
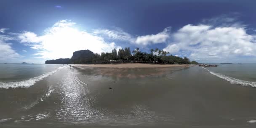
<path id="1" fill-rule="evenodd" d="M 157 33 L 156 35 L 144 35 L 136 38 L 136 44 L 148 45 L 148 44 L 156 44 L 156 43 L 164 43 L 170 37 L 171 27 L 167 27 L 163 30 L 163 32 Z"/>

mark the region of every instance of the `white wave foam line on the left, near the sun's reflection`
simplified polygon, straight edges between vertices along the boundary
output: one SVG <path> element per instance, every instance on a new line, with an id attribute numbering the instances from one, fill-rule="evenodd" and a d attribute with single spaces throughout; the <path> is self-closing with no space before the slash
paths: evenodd
<path id="1" fill-rule="evenodd" d="M 53 70 L 51 72 L 47 72 L 47 73 L 45 73 L 43 75 L 40 75 L 38 77 L 30 78 L 29 80 L 8 82 L 8 83 L 0 82 L 0 88 L 5 88 L 5 89 L 8 89 L 8 88 L 28 88 L 28 87 L 34 85 L 37 81 L 43 80 L 44 78 L 48 77 L 49 75 L 52 75 L 53 73 L 57 72 L 61 68 L 63 68 L 63 67 L 59 67 L 56 70 Z"/>

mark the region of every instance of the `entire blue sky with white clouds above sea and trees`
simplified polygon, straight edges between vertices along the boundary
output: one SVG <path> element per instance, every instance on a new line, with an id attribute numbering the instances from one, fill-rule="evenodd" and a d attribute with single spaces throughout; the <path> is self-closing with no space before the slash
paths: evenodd
<path id="1" fill-rule="evenodd" d="M 0 63 L 78 50 L 159 48 L 200 63 L 256 63 L 256 0 L 1 0 Z"/>

